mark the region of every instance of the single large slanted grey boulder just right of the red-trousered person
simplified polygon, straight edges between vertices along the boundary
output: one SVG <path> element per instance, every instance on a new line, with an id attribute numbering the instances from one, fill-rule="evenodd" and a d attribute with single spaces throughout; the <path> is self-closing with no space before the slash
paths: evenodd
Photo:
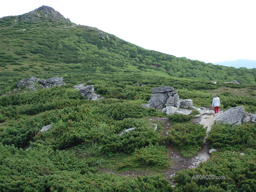
<path id="1" fill-rule="evenodd" d="M 216 123 L 228 123 L 232 125 L 241 124 L 244 114 L 245 109 L 243 106 L 233 107 L 217 117 Z"/>

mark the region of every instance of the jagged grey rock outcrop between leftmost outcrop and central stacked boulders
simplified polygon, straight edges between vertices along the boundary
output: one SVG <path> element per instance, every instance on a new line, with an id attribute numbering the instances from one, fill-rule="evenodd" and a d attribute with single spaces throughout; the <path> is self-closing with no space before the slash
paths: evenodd
<path id="1" fill-rule="evenodd" d="M 85 84 L 74 85 L 73 89 L 78 89 L 78 92 L 86 99 L 99 100 L 103 98 L 101 95 L 96 94 L 93 85 L 85 86 Z"/>

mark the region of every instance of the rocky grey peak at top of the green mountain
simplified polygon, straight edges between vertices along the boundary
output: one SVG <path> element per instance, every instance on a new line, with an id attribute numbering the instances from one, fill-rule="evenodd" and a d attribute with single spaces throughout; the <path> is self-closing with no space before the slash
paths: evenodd
<path id="1" fill-rule="evenodd" d="M 60 12 L 55 11 L 54 8 L 49 6 L 41 6 L 34 11 L 30 11 L 29 13 L 24 14 L 20 19 L 24 21 L 41 21 L 43 18 L 51 18 L 55 21 L 68 21 Z"/>

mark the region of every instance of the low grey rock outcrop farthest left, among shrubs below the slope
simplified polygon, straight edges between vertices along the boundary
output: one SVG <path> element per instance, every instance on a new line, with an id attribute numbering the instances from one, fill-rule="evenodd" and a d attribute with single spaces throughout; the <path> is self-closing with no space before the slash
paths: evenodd
<path id="1" fill-rule="evenodd" d="M 37 90 L 34 86 L 34 83 L 38 82 L 39 85 L 42 88 L 50 88 L 54 86 L 61 86 L 65 85 L 66 83 L 63 82 L 63 77 L 51 77 L 49 79 L 40 79 L 35 76 L 31 76 L 30 78 L 27 79 L 22 79 L 16 83 L 17 88 L 21 88 L 23 86 L 26 86 L 26 88 L 31 89 L 31 90 Z"/>

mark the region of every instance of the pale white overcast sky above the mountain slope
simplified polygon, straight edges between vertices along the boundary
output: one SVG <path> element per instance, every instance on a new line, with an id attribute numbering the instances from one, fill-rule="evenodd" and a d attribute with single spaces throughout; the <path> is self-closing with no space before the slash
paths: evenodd
<path id="1" fill-rule="evenodd" d="M 43 5 L 145 49 L 206 63 L 256 60 L 256 0 L 4 0 L 0 17 Z"/>

